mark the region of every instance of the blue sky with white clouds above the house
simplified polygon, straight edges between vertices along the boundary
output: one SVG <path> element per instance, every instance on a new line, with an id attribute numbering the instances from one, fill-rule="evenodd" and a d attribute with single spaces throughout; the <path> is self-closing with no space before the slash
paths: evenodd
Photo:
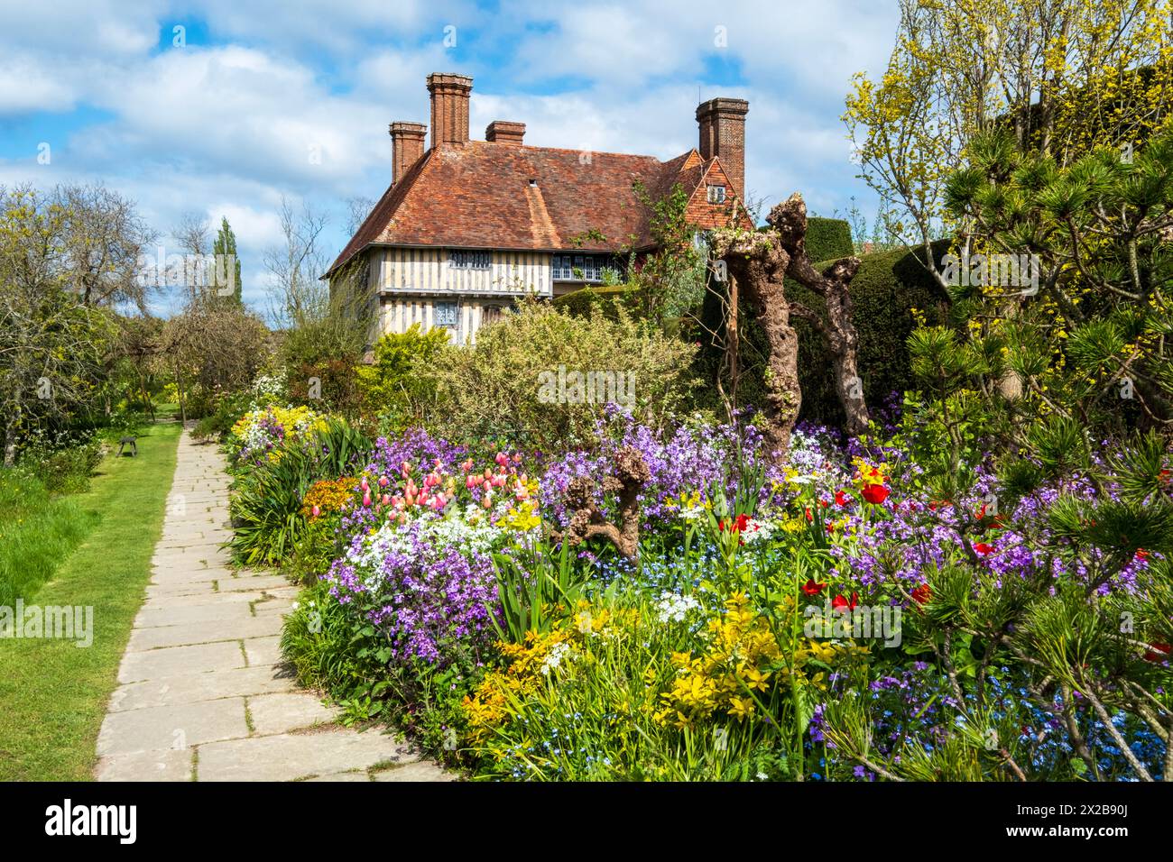
<path id="1" fill-rule="evenodd" d="M 425 77 L 459 72 L 473 137 L 514 120 L 530 144 L 662 158 L 697 144 L 698 96 L 747 99 L 751 197 L 870 217 L 840 116 L 895 27 L 890 0 L 0 0 L 0 184 L 104 182 L 164 246 L 184 213 L 226 216 L 260 310 L 282 197 L 330 215 L 332 257 L 345 201 L 391 181 L 387 124 L 428 122 Z"/>

